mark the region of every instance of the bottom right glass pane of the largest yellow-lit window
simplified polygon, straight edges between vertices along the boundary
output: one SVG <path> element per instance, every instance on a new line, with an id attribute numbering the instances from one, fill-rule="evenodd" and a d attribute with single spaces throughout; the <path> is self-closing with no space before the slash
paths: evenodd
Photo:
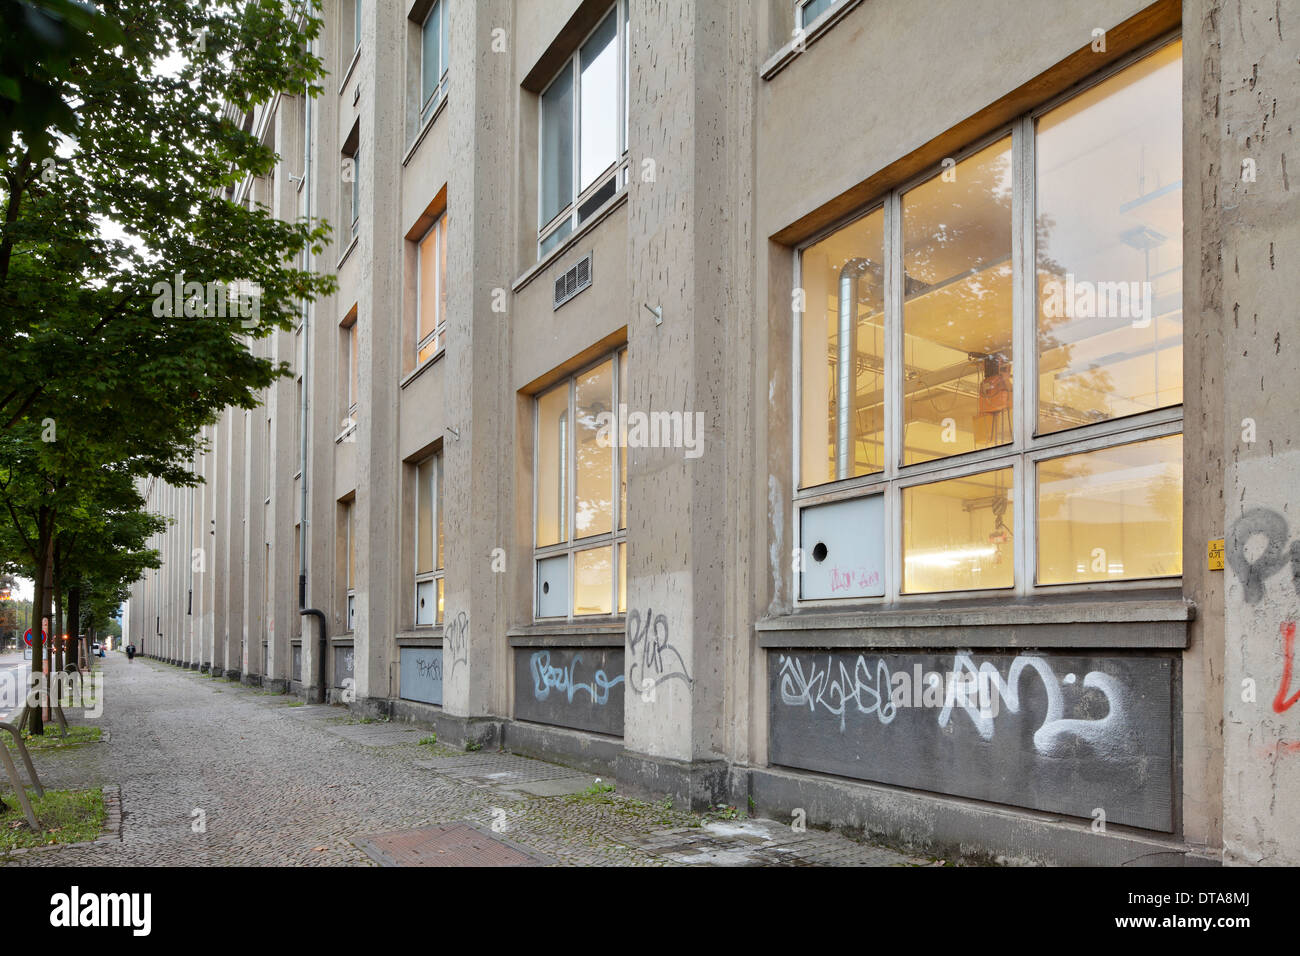
<path id="1" fill-rule="evenodd" d="M 1183 436 L 1039 462 L 1039 584 L 1183 572 Z"/>

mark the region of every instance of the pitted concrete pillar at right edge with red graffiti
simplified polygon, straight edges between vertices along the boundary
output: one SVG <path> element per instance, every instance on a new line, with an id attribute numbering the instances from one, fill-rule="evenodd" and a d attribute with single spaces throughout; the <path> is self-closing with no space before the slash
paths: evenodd
<path id="1" fill-rule="evenodd" d="M 1300 372 L 1300 190 L 1287 155 L 1296 156 L 1300 125 L 1300 17 L 1287 12 L 1265 0 L 1209 10 L 1218 61 L 1209 211 L 1221 224 L 1225 337 L 1223 857 L 1295 865 L 1300 420 L 1288 385 Z"/>

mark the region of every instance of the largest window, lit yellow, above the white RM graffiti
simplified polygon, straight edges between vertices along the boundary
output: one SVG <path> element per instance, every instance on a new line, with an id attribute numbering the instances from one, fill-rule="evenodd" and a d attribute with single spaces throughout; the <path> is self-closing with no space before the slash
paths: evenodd
<path id="1" fill-rule="evenodd" d="M 1174 42 L 801 251 L 802 600 L 1182 574 L 1180 100 Z"/>

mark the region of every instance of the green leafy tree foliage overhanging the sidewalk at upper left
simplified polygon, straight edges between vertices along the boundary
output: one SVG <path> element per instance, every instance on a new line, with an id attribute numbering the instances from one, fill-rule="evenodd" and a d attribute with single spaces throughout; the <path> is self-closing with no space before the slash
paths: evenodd
<path id="1" fill-rule="evenodd" d="M 334 280 L 294 265 L 324 222 L 233 200 L 277 161 L 248 111 L 318 90 L 318 3 L 98 7 L 0 0 L 0 564 L 75 538 L 112 594 L 156 561 L 136 481 L 198 480 L 200 429 L 286 373 L 251 343 Z M 156 308 L 177 276 L 203 310 Z M 255 323 L 207 308 L 228 285 Z"/>

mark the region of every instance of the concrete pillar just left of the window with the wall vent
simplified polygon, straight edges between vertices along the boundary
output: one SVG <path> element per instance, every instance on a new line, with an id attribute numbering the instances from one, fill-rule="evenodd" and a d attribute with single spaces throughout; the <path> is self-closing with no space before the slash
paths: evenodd
<path id="1" fill-rule="evenodd" d="M 493 311 L 493 293 L 508 289 L 512 278 L 510 196 L 519 90 L 511 57 L 493 52 L 493 31 L 511 35 L 512 17 L 514 5 L 506 0 L 455 4 L 451 105 L 442 120 L 451 122 L 451 153 L 473 157 L 454 163 L 447 183 L 451 345 L 443 360 L 443 709 L 467 718 L 504 713 L 508 680 L 506 575 L 493 571 L 491 553 L 507 546 L 519 496 L 511 489 L 508 320 Z M 476 735 L 472 727 L 465 732 Z"/>

